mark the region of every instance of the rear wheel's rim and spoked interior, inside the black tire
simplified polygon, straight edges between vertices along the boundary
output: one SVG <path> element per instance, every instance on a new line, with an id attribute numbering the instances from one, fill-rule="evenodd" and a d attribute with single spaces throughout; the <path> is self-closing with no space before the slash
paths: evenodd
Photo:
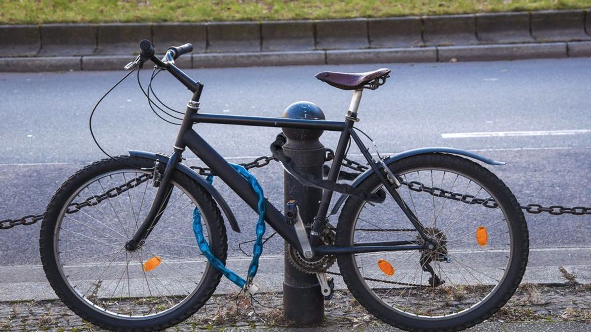
<path id="1" fill-rule="evenodd" d="M 463 172 L 449 168 L 417 167 L 399 175 L 404 183 L 415 181 L 423 183 L 423 188 L 427 190 L 428 187 L 444 188 L 484 198 L 486 204 L 466 204 L 461 200 L 445 198 L 449 197 L 449 194 L 437 197 L 440 191 L 430 194 L 428 191 L 413 191 L 408 185 L 402 185 L 399 193 L 410 209 L 427 227 L 430 235 L 439 235 L 439 242 L 445 243 L 445 250 L 431 252 L 431 257 L 447 254 L 452 262 L 434 260 L 429 265 L 446 284 L 433 287 L 433 283 L 428 280 L 431 274 L 421 268 L 421 256 L 429 253 L 415 250 L 354 255 L 353 262 L 363 287 L 391 310 L 415 319 L 449 319 L 476 310 L 496 294 L 511 264 L 514 235 L 506 222 L 504 207 L 485 207 L 494 205 L 490 204 L 491 201 L 499 200 L 483 188 L 480 181 Z M 373 189 L 376 191 L 380 187 L 381 184 Z M 421 187 L 415 184 L 414 188 Z M 472 199 L 465 196 L 465 201 L 470 200 Z M 421 206 L 427 206 L 429 209 Z M 380 210 L 377 210 L 378 208 Z M 387 226 L 382 226 L 384 224 Z M 476 230 L 480 226 L 485 229 L 486 243 L 481 241 L 482 236 L 480 243 L 476 237 Z M 387 195 L 383 204 L 362 204 L 356 212 L 350 241 L 356 243 L 420 239 L 416 230 L 380 230 L 413 228 L 391 196 Z M 358 231 L 359 229 L 361 230 Z M 442 234 L 444 239 L 441 239 Z M 378 264 L 379 259 L 384 259 L 388 263 L 381 263 L 384 269 Z M 394 269 L 393 275 L 387 274 L 390 272 L 389 267 Z"/>

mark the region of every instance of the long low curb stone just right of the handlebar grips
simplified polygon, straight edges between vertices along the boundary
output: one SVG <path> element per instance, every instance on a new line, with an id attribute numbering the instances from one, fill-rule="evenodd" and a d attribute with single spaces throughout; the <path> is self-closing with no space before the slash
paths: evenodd
<path id="1" fill-rule="evenodd" d="M 324 51 L 193 54 L 193 68 L 324 64 Z"/>

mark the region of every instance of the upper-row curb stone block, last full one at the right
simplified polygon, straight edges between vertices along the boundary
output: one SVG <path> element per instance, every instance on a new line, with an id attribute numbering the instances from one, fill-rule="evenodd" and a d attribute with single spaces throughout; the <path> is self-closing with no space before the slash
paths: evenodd
<path id="1" fill-rule="evenodd" d="M 531 34 L 536 41 L 591 40 L 585 33 L 584 11 L 531 13 Z"/>

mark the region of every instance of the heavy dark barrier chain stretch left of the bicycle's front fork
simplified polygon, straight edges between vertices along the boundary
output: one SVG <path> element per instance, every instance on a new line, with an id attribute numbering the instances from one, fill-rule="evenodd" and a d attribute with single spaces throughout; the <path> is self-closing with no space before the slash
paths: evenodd
<path id="1" fill-rule="evenodd" d="M 95 206 L 103 200 L 117 197 L 122 193 L 125 193 L 125 191 L 128 191 L 129 189 L 137 187 L 139 184 L 142 184 L 145 181 L 150 180 L 150 178 L 152 178 L 151 174 L 142 174 L 136 178 L 132 178 L 131 180 L 127 181 L 122 185 L 119 185 L 118 187 L 113 187 L 105 191 L 105 193 L 103 194 L 90 196 L 86 198 L 82 203 L 72 202 L 68 206 L 66 213 L 76 213 L 77 211 L 80 211 L 80 209 L 82 209 L 83 207 Z M 27 216 L 21 217 L 19 219 L 0 220 L 0 229 L 11 229 L 12 227 L 17 225 L 31 225 L 37 223 L 39 220 L 42 219 L 43 214 L 28 214 Z"/>

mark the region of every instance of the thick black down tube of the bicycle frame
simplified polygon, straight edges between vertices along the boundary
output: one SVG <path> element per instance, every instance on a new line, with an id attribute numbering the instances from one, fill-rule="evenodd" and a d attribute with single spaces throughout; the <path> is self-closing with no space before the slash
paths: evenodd
<path id="1" fill-rule="evenodd" d="M 252 208 L 257 211 L 258 196 L 251 185 L 238 174 L 230 164 L 219 154 L 211 145 L 199 136 L 195 131 L 189 130 L 183 134 L 183 141 L 207 166 L 209 166 L 216 175 L 222 179 L 238 196 L 242 198 Z M 285 217 L 275 206 L 267 201 L 267 223 L 281 235 L 290 245 L 300 248 L 297 235 L 293 227 L 285 222 Z"/>

